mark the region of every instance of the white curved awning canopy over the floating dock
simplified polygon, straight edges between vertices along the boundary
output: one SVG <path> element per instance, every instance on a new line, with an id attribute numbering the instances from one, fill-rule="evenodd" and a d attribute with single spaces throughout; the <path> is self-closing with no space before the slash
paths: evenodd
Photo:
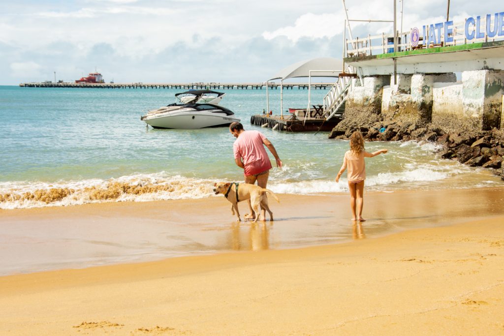
<path id="1" fill-rule="evenodd" d="M 338 77 L 338 75 L 342 73 L 342 66 L 343 62 L 341 59 L 331 57 L 303 60 L 280 70 L 268 81 L 276 79 L 281 79 L 283 81 L 288 78 L 309 77 L 309 71 L 313 71 L 311 77 Z"/>

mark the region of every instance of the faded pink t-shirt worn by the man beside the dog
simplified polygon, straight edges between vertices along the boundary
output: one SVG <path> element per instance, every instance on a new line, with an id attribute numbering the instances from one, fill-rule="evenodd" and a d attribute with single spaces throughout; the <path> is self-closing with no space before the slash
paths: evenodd
<path id="1" fill-rule="evenodd" d="M 257 130 L 245 130 L 240 133 L 233 145 L 235 159 L 243 159 L 246 176 L 262 173 L 271 169 L 271 161 L 264 148 L 266 137 Z"/>

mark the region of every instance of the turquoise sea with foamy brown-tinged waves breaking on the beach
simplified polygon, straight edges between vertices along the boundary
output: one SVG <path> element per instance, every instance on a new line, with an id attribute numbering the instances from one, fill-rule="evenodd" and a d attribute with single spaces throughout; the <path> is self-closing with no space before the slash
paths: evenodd
<path id="1" fill-rule="evenodd" d="M 183 90 L 0 86 L 0 209 L 212 196 L 215 181 L 241 181 L 227 127 L 153 129 L 140 116 Z M 347 141 L 327 132 L 285 133 L 250 125 L 266 90 L 218 90 L 245 129 L 272 141 L 285 167 L 268 187 L 280 193 L 347 192 L 334 182 Z M 270 90 L 280 113 L 280 90 Z M 321 103 L 326 90 L 312 90 Z M 284 109 L 307 105 L 307 90 L 284 90 Z M 369 190 L 499 186 L 490 171 L 440 159 L 431 143 L 366 143 L 389 154 L 366 159 Z M 274 162 L 274 160 L 273 160 Z M 346 176 L 346 175 L 344 175 Z"/>

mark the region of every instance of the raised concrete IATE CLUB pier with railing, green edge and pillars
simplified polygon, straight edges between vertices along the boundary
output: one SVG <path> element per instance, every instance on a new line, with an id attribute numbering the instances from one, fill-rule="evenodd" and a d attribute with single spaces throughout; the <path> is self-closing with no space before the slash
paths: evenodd
<path id="1" fill-rule="evenodd" d="M 504 12 L 345 39 L 344 62 L 356 76 L 347 109 L 442 129 L 504 127 Z"/>

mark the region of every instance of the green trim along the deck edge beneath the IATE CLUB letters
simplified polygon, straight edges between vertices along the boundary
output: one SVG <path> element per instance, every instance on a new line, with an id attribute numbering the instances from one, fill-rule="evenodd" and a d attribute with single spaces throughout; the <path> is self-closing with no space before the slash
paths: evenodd
<path id="1" fill-rule="evenodd" d="M 498 46 L 504 46 L 504 41 L 478 42 L 478 43 L 462 44 L 462 45 L 450 45 L 450 46 L 446 46 L 446 47 L 435 47 L 435 48 L 427 48 L 427 49 L 391 52 L 391 53 L 371 55 L 371 56 L 346 57 L 345 62 L 355 62 L 355 61 L 359 61 L 359 60 L 370 60 L 370 59 L 396 58 L 396 57 L 424 55 L 424 54 L 433 54 L 433 53 L 441 53 L 441 52 L 464 51 L 464 50 L 491 48 L 491 47 L 498 47 Z"/>

